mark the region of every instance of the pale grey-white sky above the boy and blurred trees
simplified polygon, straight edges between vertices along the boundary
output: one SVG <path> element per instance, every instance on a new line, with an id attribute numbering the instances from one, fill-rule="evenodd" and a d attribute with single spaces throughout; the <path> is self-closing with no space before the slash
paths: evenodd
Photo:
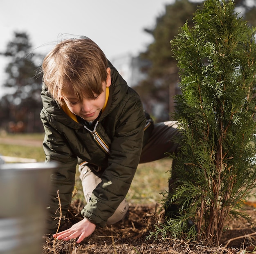
<path id="1" fill-rule="evenodd" d="M 85 35 L 107 58 L 137 55 L 153 37 L 153 28 L 173 0 L 0 0 L 0 52 L 13 32 L 26 32 L 34 52 L 47 53 L 61 40 Z M 5 80 L 6 59 L 0 56 L 0 85 Z M 2 89 L 0 89 L 0 95 Z"/>

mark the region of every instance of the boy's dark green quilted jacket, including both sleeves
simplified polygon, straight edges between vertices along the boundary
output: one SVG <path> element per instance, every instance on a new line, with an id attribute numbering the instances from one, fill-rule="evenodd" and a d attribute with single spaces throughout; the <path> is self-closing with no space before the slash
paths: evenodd
<path id="1" fill-rule="evenodd" d="M 102 182 L 92 193 L 90 202 L 82 210 L 84 217 L 103 227 L 125 198 L 137 165 L 143 143 L 146 117 L 139 95 L 128 87 L 117 70 L 110 64 L 111 86 L 108 103 L 100 115 L 96 132 L 109 151 L 102 148 L 90 131 L 71 119 L 50 97 L 43 85 L 40 113 L 45 128 L 43 148 L 46 161 L 58 161 L 59 168 L 52 175 L 49 216 L 58 217 L 57 191 L 65 215 L 72 199 L 76 165 L 88 161 L 103 172 Z M 149 128 L 147 129 L 149 130 Z M 143 141 L 144 139 L 144 141 Z M 55 214 L 55 215 L 54 215 Z M 48 230 L 57 228 L 58 220 L 49 218 Z"/>

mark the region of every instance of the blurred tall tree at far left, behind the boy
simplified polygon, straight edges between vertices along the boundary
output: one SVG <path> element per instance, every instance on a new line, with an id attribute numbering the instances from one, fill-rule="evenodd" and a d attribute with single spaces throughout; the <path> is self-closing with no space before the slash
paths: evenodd
<path id="1" fill-rule="evenodd" d="M 9 60 L 3 84 L 5 94 L 0 102 L 1 127 L 15 133 L 43 132 L 39 118 L 42 77 L 36 75 L 41 56 L 31 53 L 31 43 L 25 32 L 14 32 L 1 55 Z"/>

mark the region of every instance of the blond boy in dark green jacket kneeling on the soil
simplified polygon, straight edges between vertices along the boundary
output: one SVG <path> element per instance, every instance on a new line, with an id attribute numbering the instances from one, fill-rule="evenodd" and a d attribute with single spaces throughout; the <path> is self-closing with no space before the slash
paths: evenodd
<path id="1" fill-rule="evenodd" d="M 82 221 L 53 237 L 80 243 L 103 227 L 120 221 L 138 163 L 173 153 L 173 122 L 153 124 L 139 95 L 128 87 L 101 49 L 86 37 L 57 44 L 42 65 L 46 161 L 58 161 L 52 177 L 48 232 L 58 227 L 58 195 L 65 216 L 72 199 L 76 165 L 87 204 Z"/>

